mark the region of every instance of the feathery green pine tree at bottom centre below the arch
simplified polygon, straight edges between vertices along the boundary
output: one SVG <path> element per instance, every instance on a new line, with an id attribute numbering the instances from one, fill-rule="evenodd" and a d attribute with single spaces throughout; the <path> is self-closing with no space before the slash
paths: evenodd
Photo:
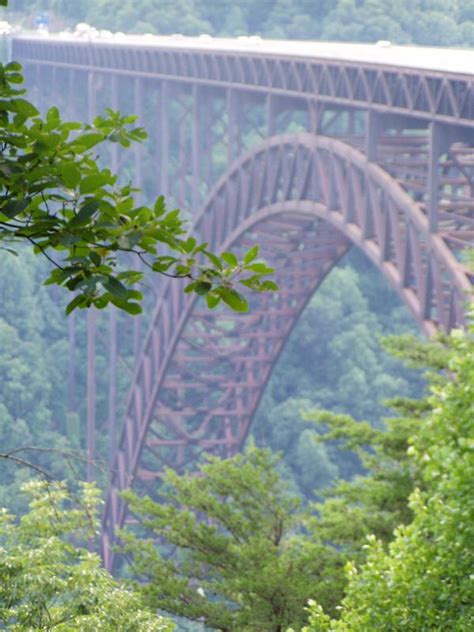
<path id="1" fill-rule="evenodd" d="M 158 503 L 126 494 L 133 513 L 163 540 L 157 547 L 125 536 L 136 588 L 150 608 L 224 632 L 302 625 L 308 599 L 327 597 L 321 569 L 332 551 L 302 537 L 300 502 L 268 450 L 207 461 L 198 476 L 168 470 Z"/>

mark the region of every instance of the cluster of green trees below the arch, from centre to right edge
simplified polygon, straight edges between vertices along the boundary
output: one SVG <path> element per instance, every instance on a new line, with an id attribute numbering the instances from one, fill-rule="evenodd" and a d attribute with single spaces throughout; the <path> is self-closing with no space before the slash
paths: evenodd
<path id="1" fill-rule="evenodd" d="M 307 632 L 472 627 L 473 338 L 458 331 L 435 343 L 390 345 L 431 369 L 431 394 L 394 399 L 397 415 L 384 431 L 347 415 L 306 413 L 320 441 L 342 441 L 365 468 L 324 502 L 292 504 L 275 458 L 253 448 L 211 459 L 198 478 L 168 473 L 165 503 L 128 496 L 163 540 L 157 549 L 128 539 L 150 607 L 219 630 L 276 632 L 285 628 L 272 607 L 294 608 L 284 625 L 298 629 L 297 604 L 310 586 L 316 601 Z M 279 520 L 286 536 L 272 547 Z M 173 561 L 165 543 L 180 551 Z"/>

